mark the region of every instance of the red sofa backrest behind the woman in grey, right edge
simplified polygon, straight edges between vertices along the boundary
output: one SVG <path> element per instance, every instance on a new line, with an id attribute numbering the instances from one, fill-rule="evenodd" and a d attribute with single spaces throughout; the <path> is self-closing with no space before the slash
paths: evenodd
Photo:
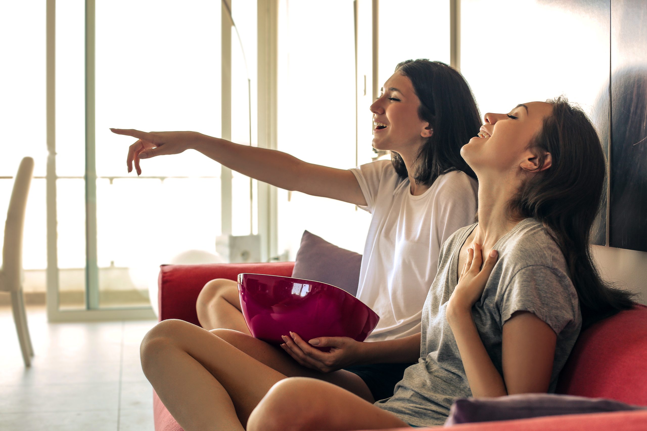
<path id="1" fill-rule="evenodd" d="M 557 392 L 647 406 L 647 307 L 637 304 L 583 331 Z"/>

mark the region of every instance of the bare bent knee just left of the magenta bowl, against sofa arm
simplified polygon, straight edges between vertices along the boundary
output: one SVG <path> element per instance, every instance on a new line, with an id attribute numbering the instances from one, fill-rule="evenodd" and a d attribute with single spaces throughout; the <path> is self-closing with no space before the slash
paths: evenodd
<path id="1" fill-rule="evenodd" d="M 206 330 L 226 328 L 251 335 L 241 312 L 238 284 L 234 280 L 207 282 L 195 304 L 198 321 Z"/>

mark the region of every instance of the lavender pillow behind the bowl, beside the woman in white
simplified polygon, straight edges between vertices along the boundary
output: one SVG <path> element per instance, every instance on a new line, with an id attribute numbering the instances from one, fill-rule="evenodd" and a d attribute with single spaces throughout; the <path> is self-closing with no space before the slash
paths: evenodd
<path id="1" fill-rule="evenodd" d="M 360 279 L 362 255 L 346 250 L 303 232 L 301 246 L 296 252 L 292 277 L 322 281 L 356 295 Z"/>

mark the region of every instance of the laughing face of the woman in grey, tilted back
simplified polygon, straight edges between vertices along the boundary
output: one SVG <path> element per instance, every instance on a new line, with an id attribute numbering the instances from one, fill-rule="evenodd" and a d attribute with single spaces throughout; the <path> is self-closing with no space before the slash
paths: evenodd
<path id="1" fill-rule="evenodd" d="M 461 156 L 477 175 L 531 171 L 537 154 L 528 145 L 552 112 L 551 103 L 538 101 L 517 105 L 508 114 L 488 112 L 479 136 L 461 148 Z"/>

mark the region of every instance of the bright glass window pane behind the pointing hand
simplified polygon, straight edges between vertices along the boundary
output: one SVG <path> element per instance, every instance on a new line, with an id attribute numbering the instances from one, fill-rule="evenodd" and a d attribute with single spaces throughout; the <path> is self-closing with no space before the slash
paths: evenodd
<path id="1" fill-rule="evenodd" d="M 96 2 L 96 249 L 100 306 L 156 282 L 179 253 L 214 251 L 220 167 L 195 151 L 126 171 L 135 142 L 109 127 L 220 134 L 220 21 L 214 1 Z M 89 262 L 92 264 L 92 262 Z"/>

